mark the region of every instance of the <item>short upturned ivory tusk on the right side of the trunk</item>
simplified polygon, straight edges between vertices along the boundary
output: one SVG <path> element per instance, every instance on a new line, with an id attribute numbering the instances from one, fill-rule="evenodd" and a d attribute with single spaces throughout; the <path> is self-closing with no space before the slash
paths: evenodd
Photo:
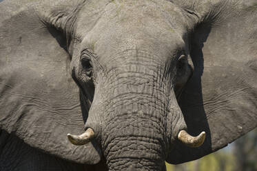
<path id="1" fill-rule="evenodd" d="M 181 130 L 178 133 L 178 139 L 191 148 L 198 148 L 205 141 L 205 132 L 201 132 L 197 137 L 192 137 L 185 130 Z"/>

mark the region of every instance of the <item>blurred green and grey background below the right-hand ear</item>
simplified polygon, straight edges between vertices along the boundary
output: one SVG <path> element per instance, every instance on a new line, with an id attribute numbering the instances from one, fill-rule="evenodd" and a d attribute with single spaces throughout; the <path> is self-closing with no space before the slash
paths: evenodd
<path id="1" fill-rule="evenodd" d="M 257 128 L 227 147 L 196 161 L 169 165 L 167 171 L 257 171 Z"/>

